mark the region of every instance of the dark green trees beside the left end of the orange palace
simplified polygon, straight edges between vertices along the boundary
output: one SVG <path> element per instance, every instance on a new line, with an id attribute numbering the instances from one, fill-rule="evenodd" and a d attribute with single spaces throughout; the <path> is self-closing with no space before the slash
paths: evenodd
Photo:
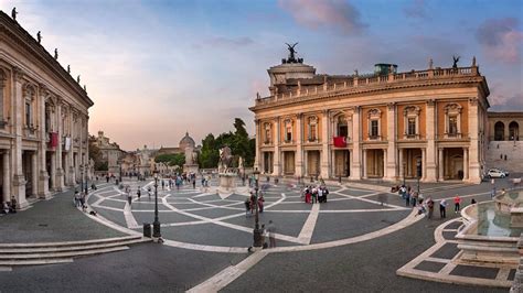
<path id="1" fill-rule="evenodd" d="M 242 119 L 235 118 L 233 126 L 235 129 L 234 132 L 224 132 L 217 138 L 209 133 L 205 139 L 202 140 L 202 150 L 199 156 L 200 167 L 216 167 L 220 161 L 220 149 L 225 145 L 231 148 L 235 156 L 234 164 L 236 166 L 239 156 L 244 159 L 244 166 L 253 165 L 256 146 L 255 140 L 248 138 L 245 122 Z"/>

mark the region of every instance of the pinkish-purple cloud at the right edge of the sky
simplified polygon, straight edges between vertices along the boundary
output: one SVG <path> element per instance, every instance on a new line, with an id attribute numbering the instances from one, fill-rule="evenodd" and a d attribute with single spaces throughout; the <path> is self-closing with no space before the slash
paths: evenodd
<path id="1" fill-rule="evenodd" d="M 523 32 L 517 30 L 516 19 L 485 20 L 476 32 L 476 37 L 489 58 L 506 63 L 521 59 Z"/>

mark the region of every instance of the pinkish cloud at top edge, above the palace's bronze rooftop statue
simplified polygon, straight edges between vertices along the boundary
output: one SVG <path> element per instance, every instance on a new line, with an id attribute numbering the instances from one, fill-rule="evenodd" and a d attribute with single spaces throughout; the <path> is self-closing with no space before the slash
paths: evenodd
<path id="1" fill-rule="evenodd" d="M 360 20 L 360 12 L 346 1 L 279 0 L 278 4 L 309 29 L 331 26 L 344 34 L 360 34 L 366 26 Z"/>

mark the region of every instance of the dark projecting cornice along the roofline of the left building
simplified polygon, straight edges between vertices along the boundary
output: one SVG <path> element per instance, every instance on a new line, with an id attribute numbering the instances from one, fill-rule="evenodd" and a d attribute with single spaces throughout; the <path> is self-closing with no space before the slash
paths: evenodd
<path id="1" fill-rule="evenodd" d="M 0 11 L 0 35 L 2 34 L 6 36 L 6 40 L 11 40 L 15 44 L 22 46 L 33 57 L 41 62 L 41 64 L 58 77 L 66 87 L 71 88 L 73 93 L 81 97 L 88 107 L 94 105 L 93 100 L 87 96 L 87 93 L 84 91 L 81 85 L 73 79 L 62 65 L 18 22 Z"/>

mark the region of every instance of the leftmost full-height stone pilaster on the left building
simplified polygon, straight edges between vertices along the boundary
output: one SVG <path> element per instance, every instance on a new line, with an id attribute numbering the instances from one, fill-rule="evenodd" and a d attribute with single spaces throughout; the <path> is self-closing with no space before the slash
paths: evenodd
<path id="1" fill-rule="evenodd" d="M 22 137 L 23 137 L 23 110 L 25 107 L 23 98 L 23 72 L 15 67 L 13 68 L 13 82 L 14 90 L 12 93 L 12 106 L 11 113 L 13 115 L 13 144 L 11 146 L 11 160 L 12 160 L 12 195 L 17 198 L 20 208 L 29 205 L 25 199 L 25 177 L 22 169 Z M 34 94 L 34 93 L 33 93 Z"/>

